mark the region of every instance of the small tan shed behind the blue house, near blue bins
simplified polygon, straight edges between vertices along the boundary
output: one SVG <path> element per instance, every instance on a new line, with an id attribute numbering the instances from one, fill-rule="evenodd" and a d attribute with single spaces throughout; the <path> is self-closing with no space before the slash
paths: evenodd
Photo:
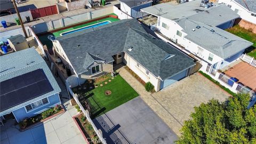
<path id="1" fill-rule="evenodd" d="M 16 52 L 29 48 L 26 38 L 22 35 L 11 36 L 7 38 L 7 41 L 9 42 L 9 45 L 12 48 L 12 50 Z"/>

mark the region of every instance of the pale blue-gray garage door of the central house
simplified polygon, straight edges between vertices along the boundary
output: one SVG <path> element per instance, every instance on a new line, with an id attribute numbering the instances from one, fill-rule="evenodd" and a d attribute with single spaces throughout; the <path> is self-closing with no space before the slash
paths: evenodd
<path id="1" fill-rule="evenodd" d="M 165 79 L 164 81 L 161 81 L 161 86 L 160 86 L 160 89 L 163 89 L 164 87 L 172 84 L 172 83 L 175 83 L 177 81 L 179 81 L 180 79 L 186 77 L 187 75 L 187 69 L 184 70 L 184 71 L 181 71 L 179 74 L 177 75 L 174 75 L 168 79 Z"/>

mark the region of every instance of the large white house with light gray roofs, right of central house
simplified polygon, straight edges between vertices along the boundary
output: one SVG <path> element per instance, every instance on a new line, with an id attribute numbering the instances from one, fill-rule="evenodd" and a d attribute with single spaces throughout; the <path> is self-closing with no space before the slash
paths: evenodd
<path id="1" fill-rule="evenodd" d="M 233 26 L 238 14 L 224 4 L 206 9 L 200 3 L 164 3 L 141 11 L 158 17 L 155 27 L 160 33 L 201 59 L 202 71 L 221 69 L 239 59 L 252 43 L 223 30 Z"/>

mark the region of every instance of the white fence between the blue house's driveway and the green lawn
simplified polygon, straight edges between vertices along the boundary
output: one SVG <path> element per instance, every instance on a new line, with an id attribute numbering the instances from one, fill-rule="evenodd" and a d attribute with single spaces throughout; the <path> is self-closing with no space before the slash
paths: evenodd
<path id="1" fill-rule="evenodd" d="M 80 103 L 79 99 L 78 99 L 78 95 L 73 93 L 73 91 L 70 89 L 70 84 L 68 83 L 68 81 L 66 80 L 66 87 L 69 91 L 69 93 L 73 96 L 74 100 L 76 101 L 77 105 L 79 106 L 79 108 L 82 110 L 83 114 L 85 115 L 86 119 L 90 122 L 90 124 L 93 127 L 93 130 L 96 132 L 96 134 L 99 137 L 99 140 L 103 143 L 103 144 L 107 144 L 106 140 L 103 138 L 102 135 L 102 131 L 99 129 L 97 129 L 97 127 L 94 125 L 94 123 L 92 122 L 92 119 L 90 117 L 89 111 L 85 110 L 84 107 L 82 106 L 82 104 Z"/>

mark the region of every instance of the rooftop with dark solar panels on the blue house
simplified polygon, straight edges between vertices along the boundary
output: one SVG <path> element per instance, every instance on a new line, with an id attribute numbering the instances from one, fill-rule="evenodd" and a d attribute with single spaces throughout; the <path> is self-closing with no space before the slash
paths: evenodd
<path id="1" fill-rule="evenodd" d="M 38 91 L 36 91 L 36 92 L 34 91 L 37 95 L 35 98 L 34 98 L 33 94 L 32 94 L 32 96 L 31 96 L 31 93 L 27 94 L 28 92 L 30 92 L 30 91 L 32 92 L 33 90 L 30 90 L 30 91 L 22 90 L 22 92 L 26 92 L 26 94 L 19 93 L 19 94 L 15 95 L 15 97 L 19 97 L 19 99 L 22 99 L 22 103 L 20 103 L 21 101 L 19 101 L 19 102 L 15 101 L 14 103 L 12 103 L 13 101 L 12 102 L 10 101 L 10 103 L 12 103 L 12 107 L 9 109 L 3 110 L 3 111 L 1 108 L 0 115 L 7 114 L 7 113 L 9 113 L 9 111 L 26 106 L 31 102 L 43 99 L 45 97 L 48 97 L 49 95 L 59 93 L 61 91 L 58 83 L 55 81 L 55 78 L 53 77 L 53 75 L 51 73 L 51 70 L 45 63 L 44 59 L 37 53 L 37 51 L 35 50 L 34 47 L 3 55 L 0 57 L 0 64 L 1 64 L 1 67 L 0 67 L 1 105 L 2 105 L 2 95 L 6 94 L 4 91 L 2 91 L 2 88 L 3 88 L 2 84 L 6 83 L 7 80 L 19 79 L 19 81 L 13 81 L 13 80 L 8 81 L 9 82 L 8 84 L 10 85 L 10 87 L 13 88 L 12 92 L 19 89 L 15 85 L 20 86 L 22 81 L 25 82 L 26 86 L 28 86 L 27 84 L 30 82 L 37 84 L 37 82 L 40 81 L 40 80 L 38 80 L 38 78 L 39 79 L 41 78 L 41 81 L 46 82 L 46 83 L 44 83 L 44 87 L 39 87 L 39 86 L 35 86 L 36 88 L 33 87 L 33 89 L 37 89 L 38 91 L 40 90 L 39 94 L 38 94 Z M 42 73 L 40 71 L 39 71 L 40 73 L 38 72 L 38 70 L 40 70 L 40 69 L 42 69 Z M 33 71 L 37 71 L 36 76 L 32 76 L 32 75 L 30 75 L 28 77 L 24 76 L 24 75 L 28 75 L 28 74 L 32 74 L 32 73 L 34 75 L 35 72 L 33 72 Z M 23 77 L 25 79 L 23 79 Z M 21 78 L 22 78 L 22 81 L 21 81 Z M 47 84 L 49 84 L 47 82 L 49 82 L 50 85 L 47 85 Z M 39 82 L 38 84 L 40 85 L 40 83 L 41 82 Z M 22 83 L 22 84 L 24 84 L 24 83 Z M 23 85 L 23 87 L 25 85 Z M 46 89 L 47 86 L 51 86 L 52 89 L 44 90 L 44 89 Z M 22 95 L 22 98 L 20 98 L 21 95 Z"/>

